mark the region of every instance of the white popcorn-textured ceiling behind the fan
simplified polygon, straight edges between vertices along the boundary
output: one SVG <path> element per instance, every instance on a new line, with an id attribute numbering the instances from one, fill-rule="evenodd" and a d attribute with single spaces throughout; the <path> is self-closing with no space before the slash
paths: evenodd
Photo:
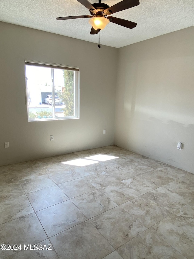
<path id="1" fill-rule="evenodd" d="M 98 1 L 90 0 L 90 3 Z M 112 6 L 119 0 L 102 0 Z M 194 0 L 139 0 L 140 5 L 114 13 L 136 22 L 134 29 L 109 23 L 100 33 L 101 44 L 122 47 L 194 26 Z M 98 43 L 90 35 L 89 18 L 58 21 L 56 17 L 90 15 L 76 0 L 1 0 L 0 21 Z"/>

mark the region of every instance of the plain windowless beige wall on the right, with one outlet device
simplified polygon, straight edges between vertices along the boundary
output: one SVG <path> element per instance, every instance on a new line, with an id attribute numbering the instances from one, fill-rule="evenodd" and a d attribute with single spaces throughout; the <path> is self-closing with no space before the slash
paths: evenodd
<path id="1" fill-rule="evenodd" d="M 119 49 L 118 68 L 115 145 L 194 173 L 194 27 Z"/>

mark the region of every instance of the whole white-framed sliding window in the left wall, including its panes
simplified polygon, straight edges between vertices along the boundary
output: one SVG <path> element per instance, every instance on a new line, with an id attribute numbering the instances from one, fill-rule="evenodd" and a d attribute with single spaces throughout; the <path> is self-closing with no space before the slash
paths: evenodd
<path id="1" fill-rule="evenodd" d="M 79 118 L 79 68 L 25 61 L 28 121 Z"/>

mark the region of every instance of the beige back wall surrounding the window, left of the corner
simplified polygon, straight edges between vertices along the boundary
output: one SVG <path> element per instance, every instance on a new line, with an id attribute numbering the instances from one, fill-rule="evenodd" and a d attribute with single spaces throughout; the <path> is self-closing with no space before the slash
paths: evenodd
<path id="1" fill-rule="evenodd" d="M 0 48 L 0 165 L 113 144 L 118 49 L 3 22 Z M 28 122 L 24 60 L 80 68 L 80 119 Z"/>

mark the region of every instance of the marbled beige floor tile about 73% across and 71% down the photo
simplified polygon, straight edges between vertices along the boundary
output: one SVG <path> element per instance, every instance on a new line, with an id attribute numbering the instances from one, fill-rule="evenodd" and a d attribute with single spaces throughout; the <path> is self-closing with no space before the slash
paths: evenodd
<path id="1" fill-rule="evenodd" d="M 141 194 L 150 192 L 160 187 L 152 180 L 144 178 L 143 175 L 134 176 L 132 178 L 125 179 L 122 182 Z"/>

